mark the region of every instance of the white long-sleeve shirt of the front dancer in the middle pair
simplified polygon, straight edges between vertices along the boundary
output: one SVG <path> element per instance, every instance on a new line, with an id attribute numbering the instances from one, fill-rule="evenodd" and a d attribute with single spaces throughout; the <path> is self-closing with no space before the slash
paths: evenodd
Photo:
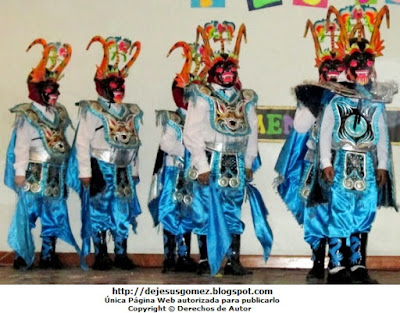
<path id="1" fill-rule="evenodd" d="M 212 84 L 212 87 L 215 90 L 222 88 L 216 84 Z M 228 96 L 229 93 L 232 94 L 233 92 L 233 87 L 226 91 Z M 258 120 L 254 106 L 249 109 L 247 119 L 251 131 L 248 136 L 245 152 L 245 167 L 251 168 L 258 153 Z M 206 156 L 206 142 L 226 144 L 236 142 L 237 140 L 237 137 L 218 133 L 212 128 L 210 106 L 204 98 L 197 97 L 196 103 L 193 103 L 193 99 L 189 100 L 189 108 L 183 130 L 183 141 L 191 153 L 192 165 L 197 169 L 199 174 L 210 171 L 210 165 Z"/>

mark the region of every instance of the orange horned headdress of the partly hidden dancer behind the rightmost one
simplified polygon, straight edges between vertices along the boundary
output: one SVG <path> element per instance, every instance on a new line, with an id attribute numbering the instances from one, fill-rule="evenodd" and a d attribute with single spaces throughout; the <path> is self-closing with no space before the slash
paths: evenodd
<path id="1" fill-rule="evenodd" d="M 320 67 L 326 60 L 343 59 L 345 57 L 337 46 L 339 26 L 336 22 L 333 21 L 327 25 L 326 20 L 319 20 L 314 24 L 310 20 L 307 20 L 304 37 L 307 36 L 309 29 L 314 39 L 316 67 Z M 327 36 L 330 36 L 330 45 L 322 49 L 322 44 L 326 43 L 325 39 Z"/>

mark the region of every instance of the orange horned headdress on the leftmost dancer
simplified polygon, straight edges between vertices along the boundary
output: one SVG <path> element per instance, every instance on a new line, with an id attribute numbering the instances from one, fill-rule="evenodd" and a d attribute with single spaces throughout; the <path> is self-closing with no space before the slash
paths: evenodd
<path id="1" fill-rule="evenodd" d="M 53 80 L 54 82 L 62 78 L 62 71 L 71 59 L 72 49 L 67 43 L 51 42 L 47 44 L 43 38 L 34 40 L 26 49 L 29 51 L 34 45 L 43 46 L 43 55 L 39 64 L 32 69 L 28 76 L 29 83 L 39 83 L 41 81 Z"/>

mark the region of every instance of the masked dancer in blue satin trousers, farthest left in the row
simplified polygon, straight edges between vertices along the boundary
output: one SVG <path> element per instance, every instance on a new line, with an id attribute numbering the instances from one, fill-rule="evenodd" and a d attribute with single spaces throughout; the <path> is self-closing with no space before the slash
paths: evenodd
<path id="1" fill-rule="evenodd" d="M 16 114 L 8 146 L 5 184 L 18 194 L 8 243 L 15 251 L 14 268 L 25 270 L 34 262 L 35 246 L 31 230 L 40 218 L 42 251 L 40 268 L 62 268 L 55 248 L 58 238 L 80 250 L 73 237 L 67 208 L 65 185 L 70 145 L 66 138 L 71 125 L 67 110 L 57 102 L 58 80 L 71 58 L 71 46 L 47 43 L 39 38 L 34 45 L 43 47 L 39 64 L 28 76 L 29 98 L 10 111 Z"/>

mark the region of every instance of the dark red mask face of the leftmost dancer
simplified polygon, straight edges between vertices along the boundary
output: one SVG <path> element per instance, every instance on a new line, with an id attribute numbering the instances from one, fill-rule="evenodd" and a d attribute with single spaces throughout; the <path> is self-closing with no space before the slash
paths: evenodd
<path id="1" fill-rule="evenodd" d="M 59 85 L 53 80 L 28 82 L 29 99 L 44 106 L 54 106 L 60 95 L 58 88 Z"/>

